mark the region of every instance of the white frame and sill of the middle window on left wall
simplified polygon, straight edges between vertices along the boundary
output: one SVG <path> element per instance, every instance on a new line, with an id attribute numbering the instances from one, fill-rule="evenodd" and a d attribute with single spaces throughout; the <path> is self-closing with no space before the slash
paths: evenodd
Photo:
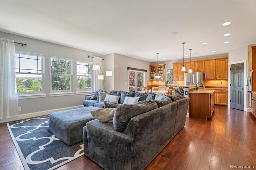
<path id="1" fill-rule="evenodd" d="M 70 90 L 56 90 L 56 91 L 53 91 L 52 90 L 52 75 L 68 75 L 68 74 L 56 74 L 56 73 L 52 73 L 52 58 L 54 59 L 62 59 L 62 60 L 67 60 L 67 61 L 70 61 Z M 64 57 L 57 57 L 57 56 L 54 56 L 54 55 L 50 55 L 49 57 L 50 59 L 50 94 L 49 96 L 50 97 L 54 97 L 54 96 L 64 96 L 64 95 L 73 95 L 73 59 L 70 59 L 70 58 L 64 58 Z"/>

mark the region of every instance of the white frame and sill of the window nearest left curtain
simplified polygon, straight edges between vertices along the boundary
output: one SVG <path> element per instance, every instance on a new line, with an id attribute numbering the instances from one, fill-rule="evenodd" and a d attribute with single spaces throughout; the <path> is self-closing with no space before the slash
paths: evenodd
<path id="1" fill-rule="evenodd" d="M 18 51 L 15 50 L 15 54 L 21 54 L 21 55 L 31 55 L 31 56 L 36 56 L 36 57 L 41 57 L 41 73 L 22 73 L 22 72 L 16 72 L 16 63 L 15 63 L 15 77 L 19 74 L 26 74 L 26 75 L 41 75 L 42 76 L 42 91 L 28 91 L 28 92 L 17 92 L 18 93 L 18 99 L 29 99 L 29 98 L 39 98 L 39 97 L 45 97 L 45 55 L 44 54 L 38 54 L 38 53 L 31 53 L 31 52 L 26 52 L 26 51 Z M 19 56 L 20 57 L 20 56 Z M 15 55 L 16 58 L 16 55 Z M 15 59 L 16 62 L 16 59 Z M 20 66 L 20 63 L 19 63 Z"/>

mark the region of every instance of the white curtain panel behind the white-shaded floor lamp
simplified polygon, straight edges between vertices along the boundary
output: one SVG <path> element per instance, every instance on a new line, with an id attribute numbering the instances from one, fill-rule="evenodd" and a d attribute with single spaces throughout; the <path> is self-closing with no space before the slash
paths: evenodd
<path id="1" fill-rule="evenodd" d="M 103 62 L 102 62 L 102 58 L 100 57 L 93 57 L 93 64 L 98 64 L 100 65 L 100 71 L 96 71 L 96 70 L 93 70 L 93 75 L 94 75 L 94 79 L 93 79 L 93 84 L 94 84 L 94 88 L 93 90 L 94 91 L 98 91 L 100 89 L 103 89 L 103 80 L 98 80 L 98 75 L 104 75 L 102 73 L 103 69 L 102 69 L 102 65 L 103 65 Z"/>

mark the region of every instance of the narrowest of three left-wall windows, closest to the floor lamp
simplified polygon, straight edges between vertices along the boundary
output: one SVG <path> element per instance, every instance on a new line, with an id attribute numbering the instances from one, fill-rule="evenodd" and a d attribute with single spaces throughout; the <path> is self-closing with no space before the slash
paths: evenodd
<path id="1" fill-rule="evenodd" d="M 76 61 L 77 90 L 92 90 L 92 64 L 85 61 Z"/>

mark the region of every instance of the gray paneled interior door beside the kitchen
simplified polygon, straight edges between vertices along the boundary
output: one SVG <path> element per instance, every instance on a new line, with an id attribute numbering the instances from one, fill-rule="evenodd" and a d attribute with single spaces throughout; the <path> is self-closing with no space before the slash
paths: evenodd
<path id="1" fill-rule="evenodd" d="M 230 83 L 230 107 L 244 110 L 244 63 L 231 65 Z"/>

